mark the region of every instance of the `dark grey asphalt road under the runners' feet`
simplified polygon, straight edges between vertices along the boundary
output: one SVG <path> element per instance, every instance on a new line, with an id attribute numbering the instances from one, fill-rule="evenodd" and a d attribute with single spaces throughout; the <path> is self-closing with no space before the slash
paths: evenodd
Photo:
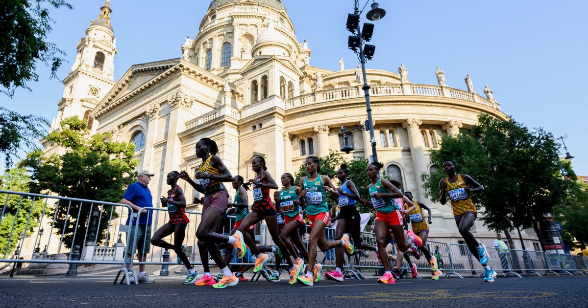
<path id="1" fill-rule="evenodd" d="M 250 275 L 249 275 L 250 276 Z M 375 278 L 315 286 L 240 282 L 226 289 L 182 285 L 182 277 L 153 277 L 152 284 L 113 285 L 113 276 L 0 279 L 1 307 L 588 307 L 587 276 L 482 279 Z"/>

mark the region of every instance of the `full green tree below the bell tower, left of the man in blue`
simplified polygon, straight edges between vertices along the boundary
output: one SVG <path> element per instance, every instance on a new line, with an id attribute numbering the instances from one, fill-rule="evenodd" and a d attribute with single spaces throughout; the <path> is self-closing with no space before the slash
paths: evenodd
<path id="1" fill-rule="evenodd" d="M 135 145 L 115 142 L 111 133 L 90 136 L 87 124 L 78 117 L 62 121 L 61 130 L 53 131 L 44 141 L 64 148 L 65 154 L 46 157 L 41 150 L 35 150 L 21 162 L 22 167 L 32 172 L 33 182 L 29 185 L 32 192 L 48 191 L 62 197 L 120 202 L 126 187 L 135 181 L 134 169 L 138 163 L 132 159 Z M 71 247 L 72 241 L 73 245 L 83 243 L 91 207 L 97 205 L 87 202 L 65 205 L 62 202 L 56 209 L 55 233 L 65 232 L 66 246 Z M 105 237 L 112 210 L 109 206 L 101 206 L 101 209 L 98 242 Z M 54 211 L 48 211 L 47 215 L 53 218 Z"/>

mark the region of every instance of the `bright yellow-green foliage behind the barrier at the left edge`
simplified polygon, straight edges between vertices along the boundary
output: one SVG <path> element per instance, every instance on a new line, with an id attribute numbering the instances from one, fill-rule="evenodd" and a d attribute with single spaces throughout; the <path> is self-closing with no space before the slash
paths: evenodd
<path id="1" fill-rule="evenodd" d="M 6 170 L 0 180 L 4 190 L 27 192 L 31 177 L 25 168 L 12 168 Z M 0 194 L 0 200 L 2 204 L 6 204 L 5 208 L 4 205 L 2 206 L 4 208 L 2 214 L 4 215 L 0 216 L 2 219 L 0 223 L 0 256 L 4 256 L 4 252 L 11 252 L 16 247 L 18 236 L 25 231 L 27 221 L 29 225 L 26 235 L 31 235 L 33 229 L 39 225 L 45 201 L 15 194 Z M 29 219 L 29 214 L 31 219 Z M 12 236 L 10 235 L 11 231 Z M 8 243 L 9 238 L 10 243 Z"/>

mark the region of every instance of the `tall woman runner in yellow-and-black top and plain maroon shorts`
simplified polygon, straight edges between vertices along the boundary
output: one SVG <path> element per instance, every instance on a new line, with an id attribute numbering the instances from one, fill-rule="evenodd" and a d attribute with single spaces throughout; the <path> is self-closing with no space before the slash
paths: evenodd
<path id="1" fill-rule="evenodd" d="M 218 146 L 215 141 L 210 138 L 202 138 L 199 140 L 198 143 L 196 143 L 196 157 L 202 159 L 202 165 L 194 175 L 194 178 L 199 179 L 200 184 L 196 184 L 186 171 L 181 172 L 180 178 L 192 185 L 197 191 L 203 192 L 204 194 L 204 197 L 202 198 L 202 221 L 196 230 L 196 237 L 198 238 L 198 241 L 205 243 L 212 259 L 215 260 L 216 265 L 223 273 L 223 278 L 216 284 L 214 284 L 215 280 L 212 275 L 205 273 L 203 279 L 208 279 L 209 281 L 205 282 L 204 285 L 210 285 L 213 283 L 212 287 L 222 288 L 236 285 L 239 280 L 232 272 L 230 272 L 228 266 L 226 266 L 225 261 L 220 255 L 220 249 L 218 245 L 216 245 L 218 241 L 215 241 L 215 235 L 218 236 L 219 234 L 214 231 L 222 229 L 225 221 L 223 219 L 223 213 L 225 213 L 228 204 L 228 194 L 226 193 L 225 185 L 223 185 L 222 182 L 230 182 L 233 180 L 233 177 L 225 167 L 225 164 L 223 164 L 220 157 L 216 155 L 217 153 Z M 239 235 L 242 236 L 242 234 Z M 198 285 L 202 285 L 201 283 L 200 280 L 195 282 L 195 284 Z"/>

